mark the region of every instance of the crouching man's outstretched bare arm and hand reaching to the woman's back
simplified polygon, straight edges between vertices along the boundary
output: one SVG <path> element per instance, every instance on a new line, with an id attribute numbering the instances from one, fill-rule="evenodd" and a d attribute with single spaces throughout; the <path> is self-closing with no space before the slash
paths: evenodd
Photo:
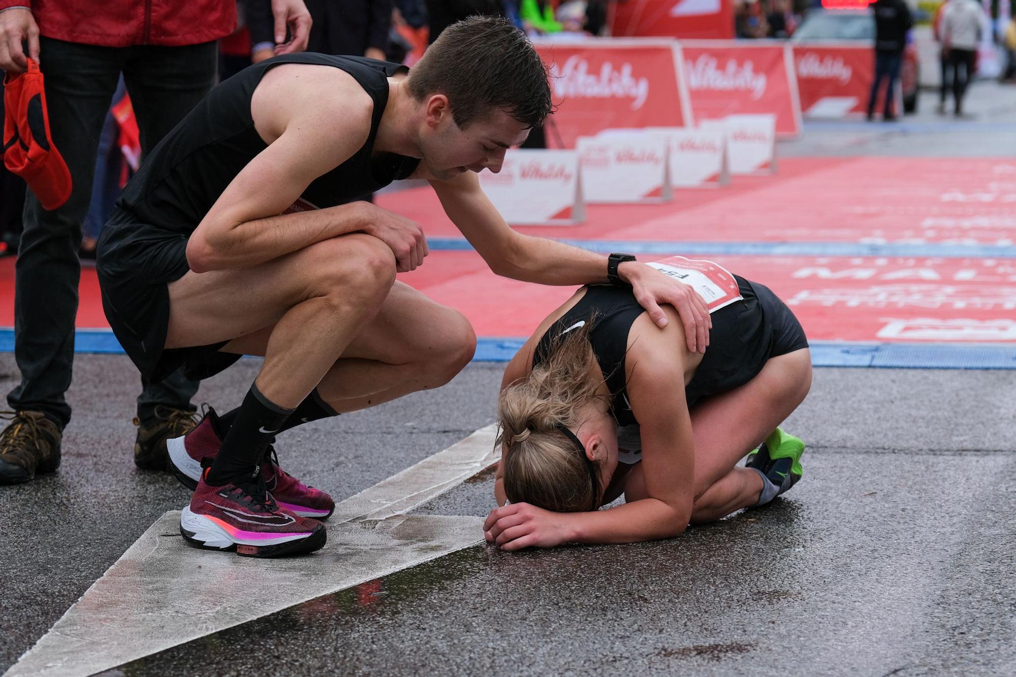
<path id="1" fill-rule="evenodd" d="M 607 258 L 545 238 L 522 235 L 509 228 L 480 187 L 473 173 L 448 181 L 432 180 L 445 213 L 469 244 L 499 275 L 539 285 L 596 285 L 607 280 Z M 632 286 L 636 300 L 659 326 L 666 314 L 660 305 L 674 306 L 685 325 L 688 349 L 704 353 L 712 319 L 698 293 L 643 263 L 626 262 L 618 274 Z"/>

